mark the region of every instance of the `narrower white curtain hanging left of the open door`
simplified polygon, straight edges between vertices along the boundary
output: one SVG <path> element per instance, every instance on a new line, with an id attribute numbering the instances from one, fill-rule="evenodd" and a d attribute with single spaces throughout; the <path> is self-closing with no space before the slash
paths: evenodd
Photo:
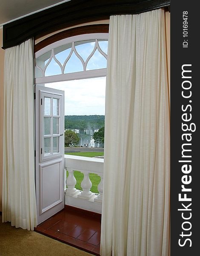
<path id="1" fill-rule="evenodd" d="M 6 49 L 2 220 L 28 230 L 37 225 L 33 68 L 32 39 Z"/>

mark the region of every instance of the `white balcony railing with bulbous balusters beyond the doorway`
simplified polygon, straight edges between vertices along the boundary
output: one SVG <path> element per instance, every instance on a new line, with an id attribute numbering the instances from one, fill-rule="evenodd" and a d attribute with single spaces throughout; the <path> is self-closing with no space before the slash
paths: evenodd
<path id="1" fill-rule="evenodd" d="M 104 160 L 100 158 L 65 155 L 65 169 L 69 172 L 69 176 L 67 178 L 65 176 L 65 204 L 101 213 L 103 198 L 103 162 Z M 77 181 L 74 177 L 74 171 L 80 171 L 84 175 L 81 182 L 82 191 L 75 188 Z M 92 183 L 89 178 L 89 173 L 97 174 L 101 178 L 98 185 L 99 194 L 90 191 Z"/>

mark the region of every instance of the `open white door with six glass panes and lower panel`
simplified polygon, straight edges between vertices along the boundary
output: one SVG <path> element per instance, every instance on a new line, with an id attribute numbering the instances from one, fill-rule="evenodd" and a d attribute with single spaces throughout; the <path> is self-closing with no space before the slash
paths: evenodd
<path id="1" fill-rule="evenodd" d="M 64 208 L 64 91 L 35 87 L 37 223 Z"/>

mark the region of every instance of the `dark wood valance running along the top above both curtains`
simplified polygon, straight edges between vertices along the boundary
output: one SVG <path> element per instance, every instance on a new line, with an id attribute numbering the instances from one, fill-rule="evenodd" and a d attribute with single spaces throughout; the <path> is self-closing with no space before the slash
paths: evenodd
<path id="1" fill-rule="evenodd" d="M 110 15 L 138 14 L 170 5 L 170 0 L 71 0 L 3 25 L 3 49 Z"/>

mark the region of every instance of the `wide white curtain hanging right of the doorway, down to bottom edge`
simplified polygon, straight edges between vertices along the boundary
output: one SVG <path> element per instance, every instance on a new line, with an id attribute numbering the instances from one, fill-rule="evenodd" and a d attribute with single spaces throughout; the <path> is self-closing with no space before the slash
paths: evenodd
<path id="1" fill-rule="evenodd" d="M 162 9 L 110 17 L 100 255 L 169 253 L 169 95 Z"/>

